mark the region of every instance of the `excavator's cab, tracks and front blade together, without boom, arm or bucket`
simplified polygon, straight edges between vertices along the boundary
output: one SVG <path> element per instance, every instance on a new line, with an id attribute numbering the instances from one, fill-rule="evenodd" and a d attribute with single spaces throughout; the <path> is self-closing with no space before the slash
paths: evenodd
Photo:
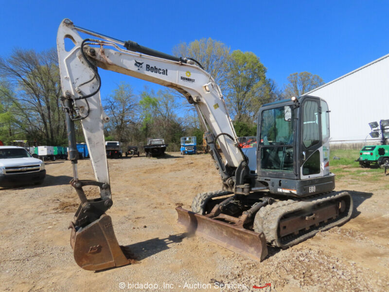
<path id="1" fill-rule="evenodd" d="M 247 162 L 235 175 L 249 192 L 199 194 L 192 212 L 176 209 L 178 222 L 258 261 L 267 256 L 267 244 L 288 248 L 346 222 L 353 200 L 347 192 L 332 192 L 329 130 L 328 106 L 318 97 L 265 104 L 257 146 L 245 151 Z"/>

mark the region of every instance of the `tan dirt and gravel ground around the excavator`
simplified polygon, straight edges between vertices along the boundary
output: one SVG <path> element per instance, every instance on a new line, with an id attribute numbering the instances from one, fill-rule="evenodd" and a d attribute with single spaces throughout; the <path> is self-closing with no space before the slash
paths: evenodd
<path id="1" fill-rule="evenodd" d="M 114 204 L 107 213 L 119 243 L 141 262 L 99 273 L 73 259 L 67 228 L 79 200 L 69 161 L 47 163 L 42 185 L 0 189 L 0 291 L 389 291 L 383 171 L 373 181 L 337 180 L 336 190 L 354 199 L 349 222 L 287 250 L 270 248 L 259 263 L 185 236 L 176 204 L 189 209 L 195 194 L 220 189 L 220 177 L 210 155 L 169 154 L 108 160 Z M 81 179 L 94 178 L 89 160 L 78 169 Z"/>

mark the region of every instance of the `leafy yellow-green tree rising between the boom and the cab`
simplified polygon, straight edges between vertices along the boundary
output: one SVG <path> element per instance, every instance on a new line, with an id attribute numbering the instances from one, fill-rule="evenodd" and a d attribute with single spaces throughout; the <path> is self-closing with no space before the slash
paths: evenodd
<path id="1" fill-rule="evenodd" d="M 254 53 L 239 50 L 232 52 L 226 67 L 226 101 L 232 116 L 236 121 L 251 122 L 271 97 L 266 68 Z"/>

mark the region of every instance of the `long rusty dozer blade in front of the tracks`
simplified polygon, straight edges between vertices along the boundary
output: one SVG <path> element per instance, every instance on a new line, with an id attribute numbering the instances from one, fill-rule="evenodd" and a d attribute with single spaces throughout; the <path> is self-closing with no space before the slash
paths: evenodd
<path id="1" fill-rule="evenodd" d="M 211 219 L 181 207 L 177 207 L 176 210 L 178 223 L 186 226 L 189 232 L 257 261 L 262 261 L 267 256 L 266 239 L 263 233 Z"/>

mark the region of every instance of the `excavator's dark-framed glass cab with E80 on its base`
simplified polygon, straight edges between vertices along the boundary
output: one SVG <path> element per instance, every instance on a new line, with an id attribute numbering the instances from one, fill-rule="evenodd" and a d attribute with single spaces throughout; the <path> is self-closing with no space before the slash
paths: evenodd
<path id="1" fill-rule="evenodd" d="M 278 195 L 332 191 L 329 127 L 328 105 L 318 97 L 265 104 L 258 116 L 257 181 Z"/>

